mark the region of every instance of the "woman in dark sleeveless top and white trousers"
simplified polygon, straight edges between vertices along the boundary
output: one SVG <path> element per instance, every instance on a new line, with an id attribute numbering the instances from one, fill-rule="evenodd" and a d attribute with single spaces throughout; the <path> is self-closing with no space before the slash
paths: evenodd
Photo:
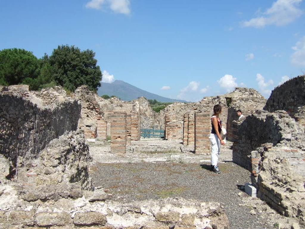
<path id="1" fill-rule="evenodd" d="M 219 118 L 219 115 L 221 114 L 221 106 L 219 104 L 215 105 L 214 108 L 214 114 L 211 117 L 211 124 L 212 124 L 212 131 L 210 133 L 209 139 L 211 142 L 211 168 L 213 172 L 219 174 L 221 173 L 217 163 L 218 163 L 218 157 L 220 154 L 220 144 L 224 145 L 225 142 L 221 138 L 220 132 L 221 132 L 221 120 Z"/>

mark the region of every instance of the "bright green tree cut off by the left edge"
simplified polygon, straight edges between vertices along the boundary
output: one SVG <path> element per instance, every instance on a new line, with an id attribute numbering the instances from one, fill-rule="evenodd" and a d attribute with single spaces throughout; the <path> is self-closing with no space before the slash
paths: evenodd
<path id="1" fill-rule="evenodd" d="M 0 84 L 20 84 L 39 75 L 39 60 L 32 52 L 20 48 L 0 51 Z"/>

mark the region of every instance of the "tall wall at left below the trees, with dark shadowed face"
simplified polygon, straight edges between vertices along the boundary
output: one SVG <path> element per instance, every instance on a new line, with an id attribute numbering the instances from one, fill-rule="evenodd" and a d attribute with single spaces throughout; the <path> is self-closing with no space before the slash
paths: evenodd
<path id="1" fill-rule="evenodd" d="M 26 85 L 1 87 L 0 152 L 12 163 L 11 170 L 18 156 L 36 158 L 52 139 L 76 130 L 80 112 L 78 102 L 60 87 L 41 91 L 29 91 Z"/>

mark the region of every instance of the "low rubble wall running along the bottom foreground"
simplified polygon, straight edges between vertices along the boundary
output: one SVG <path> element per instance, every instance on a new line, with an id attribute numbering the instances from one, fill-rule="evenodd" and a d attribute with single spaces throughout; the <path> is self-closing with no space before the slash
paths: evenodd
<path id="1" fill-rule="evenodd" d="M 228 217 L 219 203 L 181 198 L 120 203 L 107 200 L 109 196 L 95 190 L 75 200 L 31 202 L 31 208 L 26 208 L 28 203 L 19 200 L 20 208 L 0 210 L 0 229 L 229 228 Z M 12 189 L 11 198 L 17 198 Z M 8 203 L 10 201 L 5 200 L 4 204 Z"/>

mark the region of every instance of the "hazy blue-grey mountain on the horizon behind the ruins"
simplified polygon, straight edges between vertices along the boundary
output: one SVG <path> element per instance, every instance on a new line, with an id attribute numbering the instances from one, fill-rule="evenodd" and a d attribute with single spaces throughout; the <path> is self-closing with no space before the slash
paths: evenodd
<path id="1" fill-rule="evenodd" d="M 102 86 L 99 87 L 97 94 L 101 95 L 115 95 L 121 100 L 130 101 L 137 99 L 138 97 L 145 97 L 147 99 L 156 99 L 159 102 L 187 102 L 184 100 L 166 98 L 160 95 L 144 91 L 140 88 L 137 88 L 131 84 L 127 84 L 124 81 L 116 80 L 113 83 L 102 83 Z"/>

